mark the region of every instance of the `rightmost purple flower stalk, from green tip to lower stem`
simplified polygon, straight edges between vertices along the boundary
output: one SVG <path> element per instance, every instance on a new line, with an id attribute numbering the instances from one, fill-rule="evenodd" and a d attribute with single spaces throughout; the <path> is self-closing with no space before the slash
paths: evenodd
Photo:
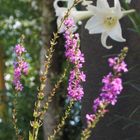
<path id="1" fill-rule="evenodd" d="M 113 69 L 107 76 L 103 77 L 103 87 L 97 99 L 93 102 L 93 114 L 87 114 L 87 128 L 82 131 L 81 140 L 87 140 L 91 135 L 91 130 L 96 127 L 97 123 L 108 112 L 108 105 L 115 105 L 118 95 L 123 90 L 122 73 L 128 71 L 127 64 L 124 62 L 128 48 L 123 48 L 118 57 L 109 58 L 109 66 Z"/>

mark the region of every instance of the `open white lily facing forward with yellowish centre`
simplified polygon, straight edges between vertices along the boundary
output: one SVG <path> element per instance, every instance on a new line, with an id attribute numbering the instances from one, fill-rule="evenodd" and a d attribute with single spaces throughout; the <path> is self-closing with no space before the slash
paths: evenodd
<path id="1" fill-rule="evenodd" d="M 106 44 L 108 36 L 118 42 L 126 41 L 122 37 L 119 20 L 135 10 L 122 11 L 119 0 L 114 0 L 114 7 L 109 7 L 107 0 L 97 0 L 97 6 L 89 5 L 87 9 L 93 11 L 95 15 L 88 20 L 85 28 L 89 30 L 90 34 L 102 33 L 101 43 L 105 48 L 112 48 Z"/>

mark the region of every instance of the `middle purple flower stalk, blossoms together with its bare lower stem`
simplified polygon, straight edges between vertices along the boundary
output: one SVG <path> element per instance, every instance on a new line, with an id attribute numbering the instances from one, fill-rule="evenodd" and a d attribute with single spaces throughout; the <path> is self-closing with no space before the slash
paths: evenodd
<path id="1" fill-rule="evenodd" d="M 81 101 L 84 91 L 81 83 L 85 81 L 85 74 L 81 71 L 83 67 L 84 54 L 80 51 L 80 38 L 78 33 L 73 33 L 72 30 L 75 26 L 74 20 L 68 18 L 64 21 L 65 25 L 65 56 L 67 60 L 72 63 L 73 69 L 70 71 L 68 81 L 68 98 L 69 105 L 66 108 L 64 116 L 61 118 L 60 123 L 54 129 L 53 134 L 48 137 L 48 140 L 54 140 L 56 134 L 64 127 L 66 119 L 70 116 L 71 109 L 76 101 Z"/>

